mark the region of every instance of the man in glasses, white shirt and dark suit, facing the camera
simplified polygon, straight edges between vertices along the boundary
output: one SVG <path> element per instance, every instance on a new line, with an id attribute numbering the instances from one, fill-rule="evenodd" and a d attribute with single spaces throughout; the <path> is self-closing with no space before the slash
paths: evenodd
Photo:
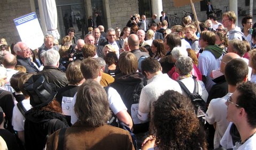
<path id="1" fill-rule="evenodd" d="M 117 52 L 117 56 L 119 57 L 119 50 L 122 48 L 123 40 L 115 40 L 117 36 L 115 35 L 115 30 L 113 28 L 107 29 L 107 41 L 105 42 L 104 46 L 107 44 L 112 45 Z"/>

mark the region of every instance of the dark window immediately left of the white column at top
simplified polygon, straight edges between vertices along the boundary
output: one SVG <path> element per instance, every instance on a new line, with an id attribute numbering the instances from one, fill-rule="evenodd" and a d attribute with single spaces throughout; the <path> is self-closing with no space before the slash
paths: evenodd
<path id="1" fill-rule="evenodd" d="M 144 14 L 150 18 L 152 16 L 151 0 L 138 0 L 138 12 L 140 15 Z"/>

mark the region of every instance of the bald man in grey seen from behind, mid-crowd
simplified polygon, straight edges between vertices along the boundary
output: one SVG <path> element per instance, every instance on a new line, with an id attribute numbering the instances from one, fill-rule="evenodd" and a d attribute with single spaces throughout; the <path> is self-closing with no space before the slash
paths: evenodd
<path id="1" fill-rule="evenodd" d="M 141 57 L 149 57 L 149 53 L 141 52 L 141 50 L 139 50 L 139 38 L 137 35 L 131 34 L 128 37 L 128 46 L 131 50 L 131 53 L 136 56 L 137 60 L 139 60 Z"/>

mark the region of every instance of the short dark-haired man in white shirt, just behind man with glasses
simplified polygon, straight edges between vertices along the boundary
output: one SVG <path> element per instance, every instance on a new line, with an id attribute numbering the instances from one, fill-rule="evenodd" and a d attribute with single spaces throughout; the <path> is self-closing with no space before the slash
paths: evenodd
<path id="1" fill-rule="evenodd" d="M 218 148 L 220 140 L 226 131 L 229 121 L 227 121 L 227 99 L 234 93 L 238 84 L 247 81 L 248 65 L 242 59 L 232 59 L 224 67 L 224 76 L 228 82 L 228 94 L 222 98 L 212 99 L 208 106 L 205 119 L 208 123 L 213 124 L 215 128 L 214 148 Z"/>

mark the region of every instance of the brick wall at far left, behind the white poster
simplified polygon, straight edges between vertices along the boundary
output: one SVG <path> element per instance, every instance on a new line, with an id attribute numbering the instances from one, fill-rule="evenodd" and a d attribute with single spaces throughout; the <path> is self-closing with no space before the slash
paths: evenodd
<path id="1" fill-rule="evenodd" d="M 9 45 L 20 41 L 13 19 L 31 13 L 30 1 L 1 0 L 0 10 L 0 38 L 5 38 Z"/>

